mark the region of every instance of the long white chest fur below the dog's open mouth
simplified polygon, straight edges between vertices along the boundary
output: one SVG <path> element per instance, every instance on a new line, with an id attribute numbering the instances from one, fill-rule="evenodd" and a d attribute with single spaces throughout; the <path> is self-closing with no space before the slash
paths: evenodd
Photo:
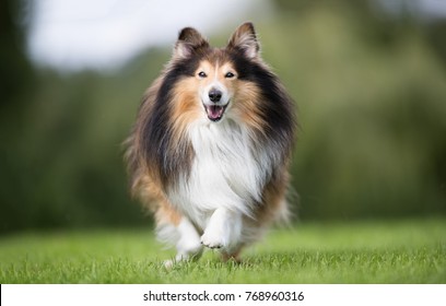
<path id="1" fill-rule="evenodd" d="M 202 228 L 219 208 L 251 214 L 271 174 L 267 149 L 255 150 L 248 130 L 230 120 L 193 125 L 189 138 L 195 160 L 189 177 L 169 192 L 174 204 Z"/>

